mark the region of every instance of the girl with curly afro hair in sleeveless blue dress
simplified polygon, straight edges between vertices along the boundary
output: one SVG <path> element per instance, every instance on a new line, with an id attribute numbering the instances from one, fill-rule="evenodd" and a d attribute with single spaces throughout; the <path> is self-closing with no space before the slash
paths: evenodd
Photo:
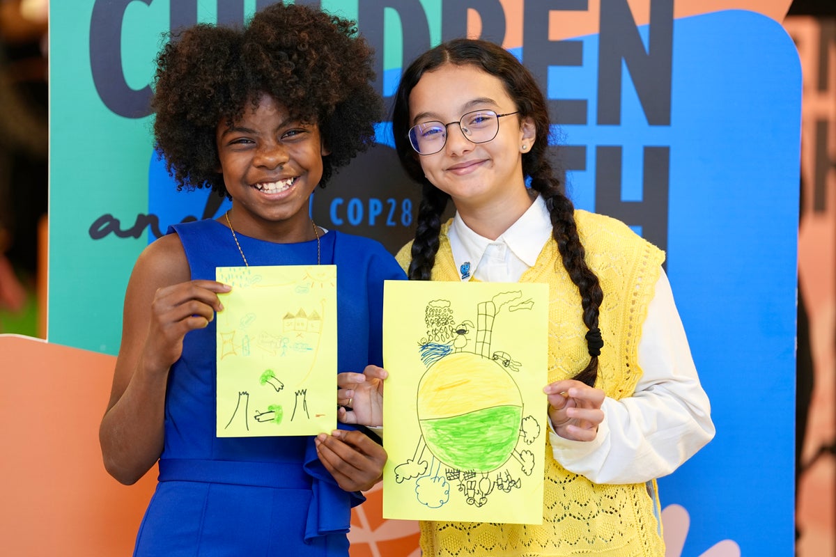
<path id="1" fill-rule="evenodd" d="M 309 210 L 374 141 L 372 56 L 354 23 L 282 3 L 243 28 L 187 28 L 158 55 L 155 147 L 178 189 L 211 188 L 232 208 L 171 226 L 125 293 L 99 440 L 123 484 L 159 461 L 135 555 L 348 554 L 350 509 L 386 453 L 351 426 L 216 436 L 213 317 L 230 287 L 214 279 L 218 266 L 338 266 L 339 419 L 380 425 L 383 283 L 404 273 L 378 242 L 324 230 Z"/>

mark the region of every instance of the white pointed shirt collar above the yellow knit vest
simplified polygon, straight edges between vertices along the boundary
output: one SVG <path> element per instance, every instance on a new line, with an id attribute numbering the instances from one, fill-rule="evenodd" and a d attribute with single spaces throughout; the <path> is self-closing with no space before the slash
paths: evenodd
<path id="1" fill-rule="evenodd" d="M 461 280 L 465 281 L 476 271 L 487 246 L 503 243 L 520 261 L 533 267 L 540 252 L 552 236 L 552 220 L 543 197 L 538 195 L 523 215 L 502 233 L 495 241 L 471 230 L 461 219 L 458 211 L 448 230 L 453 260 L 459 270 Z"/>

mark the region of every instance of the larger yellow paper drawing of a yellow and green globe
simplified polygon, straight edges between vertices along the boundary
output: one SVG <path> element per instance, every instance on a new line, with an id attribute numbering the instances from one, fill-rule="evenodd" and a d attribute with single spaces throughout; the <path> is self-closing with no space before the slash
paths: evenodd
<path id="1" fill-rule="evenodd" d="M 384 517 L 540 524 L 548 286 L 387 281 Z"/>

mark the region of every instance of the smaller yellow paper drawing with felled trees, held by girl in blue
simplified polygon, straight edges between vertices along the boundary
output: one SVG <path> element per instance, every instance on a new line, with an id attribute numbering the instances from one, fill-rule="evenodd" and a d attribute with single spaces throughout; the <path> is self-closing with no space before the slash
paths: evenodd
<path id="1" fill-rule="evenodd" d="M 336 266 L 218 267 L 217 436 L 336 428 Z"/>

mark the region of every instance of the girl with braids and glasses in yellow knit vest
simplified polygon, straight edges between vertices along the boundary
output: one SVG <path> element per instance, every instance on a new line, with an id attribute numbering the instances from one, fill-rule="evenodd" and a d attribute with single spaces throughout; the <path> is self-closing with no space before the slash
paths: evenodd
<path id="1" fill-rule="evenodd" d="M 550 292 L 543 524 L 422 522 L 423 554 L 664 555 L 655 479 L 714 435 L 664 254 L 573 208 L 547 158 L 543 93 L 503 48 L 432 48 L 393 110 L 400 162 L 423 189 L 397 256 L 409 278 Z"/>

